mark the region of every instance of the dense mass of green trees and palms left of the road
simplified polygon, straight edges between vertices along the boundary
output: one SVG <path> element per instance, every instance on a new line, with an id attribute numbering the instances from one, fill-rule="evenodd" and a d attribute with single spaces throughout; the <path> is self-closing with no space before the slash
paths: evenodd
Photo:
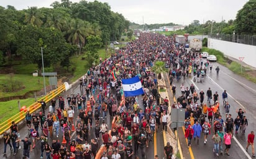
<path id="1" fill-rule="evenodd" d="M 129 21 L 106 2 L 62 0 L 51 6 L 22 11 L 0 6 L 0 66 L 12 66 L 19 57 L 40 69 L 42 47 L 45 67 L 58 63 L 68 69 L 70 57 L 85 52 L 88 37 L 97 37 L 100 47 L 119 40 L 129 27 Z M 90 54 L 97 57 L 95 51 Z"/>

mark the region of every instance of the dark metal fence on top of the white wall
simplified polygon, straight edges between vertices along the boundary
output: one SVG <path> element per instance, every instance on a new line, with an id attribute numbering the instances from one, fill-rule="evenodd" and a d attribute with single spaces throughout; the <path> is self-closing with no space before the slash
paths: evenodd
<path id="1" fill-rule="evenodd" d="M 231 41 L 234 43 L 241 43 L 245 45 L 254 45 L 256 46 L 256 35 L 209 35 L 210 38 L 224 40 L 224 41 Z"/>

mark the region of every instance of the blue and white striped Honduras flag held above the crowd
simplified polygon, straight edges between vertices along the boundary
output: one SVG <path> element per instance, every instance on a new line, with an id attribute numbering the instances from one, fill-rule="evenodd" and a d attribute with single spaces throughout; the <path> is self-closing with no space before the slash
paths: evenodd
<path id="1" fill-rule="evenodd" d="M 144 94 L 138 76 L 135 76 L 131 79 L 122 79 L 122 88 L 124 90 L 124 97 L 132 97 Z"/>

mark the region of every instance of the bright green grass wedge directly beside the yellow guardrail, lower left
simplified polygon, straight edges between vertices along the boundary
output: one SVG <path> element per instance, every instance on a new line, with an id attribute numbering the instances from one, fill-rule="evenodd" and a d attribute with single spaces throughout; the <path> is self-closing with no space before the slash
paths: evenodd
<path id="1" fill-rule="evenodd" d="M 25 100 L 19 100 L 21 107 L 22 106 L 29 106 L 35 102 L 34 98 L 28 98 Z M 0 102 L 0 123 L 6 121 L 7 119 L 11 118 L 15 114 L 19 113 L 19 106 L 17 104 L 18 100 L 11 100 L 11 101 L 1 101 Z"/>

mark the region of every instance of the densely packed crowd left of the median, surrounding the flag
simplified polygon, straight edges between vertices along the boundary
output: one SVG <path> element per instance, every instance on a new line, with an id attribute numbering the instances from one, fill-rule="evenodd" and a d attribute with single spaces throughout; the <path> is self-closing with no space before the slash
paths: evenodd
<path id="1" fill-rule="evenodd" d="M 106 151 L 101 158 L 146 158 L 146 149 L 155 132 L 167 131 L 169 104 L 168 100 L 160 102 L 157 77 L 151 69 L 155 60 L 165 59 L 174 49 L 173 39 L 142 33 L 139 40 L 127 43 L 86 72 L 79 80 L 81 95 L 53 99 L 48 112 L 45 101 L 38 101 L 42 111 L 32 114 L 28 111 L 25 115 L 29 135 L 24 139 L 19 137 L 14 122 L 10 134 L 6 132 L 4 153 L 11 141 L 13 155 L 23 142 L 23 155 L 27 158 L 30 151 L 40 148 L 40 158 L 86 159 L 95 157 L 99 144 L 103 143 Z M 136 75 L 144 89 L 142 101 L 138 97 L 125 98 L 122 90 L 121 80 Z M 116 118 L 116 126 L 108 126 L 107 118 Z M 164 153 L 171 158 L 170 143 Z"/>

